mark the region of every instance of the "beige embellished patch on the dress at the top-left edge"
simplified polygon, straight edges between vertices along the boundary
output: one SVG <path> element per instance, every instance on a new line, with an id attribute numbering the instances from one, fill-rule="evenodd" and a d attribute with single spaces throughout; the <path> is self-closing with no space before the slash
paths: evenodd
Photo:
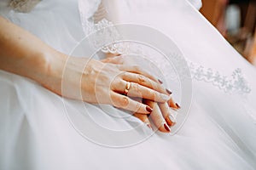
<path id="1" fill-rule="evenodd" d="M 9 7 L 20 13 L 28 13 L 34 8 L 41 0 L 12 0 Z"/>

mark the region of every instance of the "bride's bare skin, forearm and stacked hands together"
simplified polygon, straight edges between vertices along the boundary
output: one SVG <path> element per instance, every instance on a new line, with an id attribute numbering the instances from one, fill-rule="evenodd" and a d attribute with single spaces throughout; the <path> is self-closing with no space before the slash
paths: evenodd
<path id="1" fill-rule="evenodd" d="M 0 49 L 1 70 L 28 77 L 55 94 L 94 104 L 113 105 L 133 111 L 135 116 L 146 121 L 146 114 L 156 112 L 159 115 L 153 116 L 156 126 L 159 127 L 159 122 L 166 122 L 163 118 L 166 114 L 160 116 L 160 110 L 152 108 L 157 104 L 154 102 L 167 104 L 170 95 L 155 77 L 137 66 L 68 57 L 1 16 Z M 126 82 L 131 82 L 127 96 L 123 95 Z M 148 102 L 139 102 L 134 99 L 137 97 Z M 162 127 L 159 129 L 166 132 Z"/>

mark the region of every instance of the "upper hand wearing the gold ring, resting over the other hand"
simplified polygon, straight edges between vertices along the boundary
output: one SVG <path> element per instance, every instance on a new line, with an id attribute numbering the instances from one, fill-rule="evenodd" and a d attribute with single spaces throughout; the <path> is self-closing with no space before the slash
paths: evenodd
<path id="1" fill-rule="evenodd" d="M 48 81 L 46 88 L 71 99 L 82 99 L 89 103 L 108 104 L 128 111 L 148 114 L 152 108 L 137 102 L 130 97 L 150 99 L 166 102 L 170 95 L 154 77 L 137 66 L 114 65 L 103 63 L 95 59 L 70 57 L 66 65 L 59 71 L 50 71 L 60 77 L 61 87 Z M 129 85 L 129 87 L 127 87 Z M 62 90 L 60 91 L 60 89 Z M 125 95 L 125 88 L 129 88 L 129 97 Z"/>

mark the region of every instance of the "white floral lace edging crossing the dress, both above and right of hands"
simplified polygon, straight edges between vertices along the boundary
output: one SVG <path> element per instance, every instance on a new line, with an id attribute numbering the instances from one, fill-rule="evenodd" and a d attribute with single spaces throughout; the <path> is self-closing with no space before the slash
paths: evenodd
<path id="1" fill-rule="evenodd" d="M 111 54 L 131 54 L 135 52 L 135 50 L 131 51 L 131 44 L 125 43 L 115 43 L 119 39 L 121 39 L 119 32 L 114 29 L 113 23 L 106 19 L 99 21 L 93 26 L 87 27 L 86 30 L 90 33 L 94 31 L 100 31 L 99 37 L 96 37 L 92 42 L 94 46 L 100 48 L 101 44 L 105 44 L 103 42 L 113 42 L 108 46 L 102 47 L 103 53 L 111 53 Z M 102 36 L 104 35 L 104 36 Z M 102 38 L 104 37 L 104 38 Z M 143 54 L 141 50 L 138 50 L 140 54 Z M 145 55 L 145 54 L 143 54 Z M 238 94 L 249 94 L 251 92 L 251 88 L 249 87 L 245 77 L 241 72 L 241 68 L 236 68 L 235 71 L 232 72 L 231 76 L 223 76 L 218 71 L 213 71 L 212 68 L 205 68 L 202 65 L 197 65 L 194 62 L 189 61 L 187 59 L 187 63 L 180 63 L 180 58 L 177 54 L 170 54 L 172 59 L 175 60 L 177 64 L 176 68 L 180 72 L 187 73 L 185 71 L 187 67 L 184 65 L 189 65 L 189 70 L 191 74 L 191 78 L 197 81 L 211 82 L 213 86 L 218 87 L 221 90 L 224 90 L 225 93 L 238 93 Z M 183 77 L 189 77 L 187 74 L 182 74 Z"/>

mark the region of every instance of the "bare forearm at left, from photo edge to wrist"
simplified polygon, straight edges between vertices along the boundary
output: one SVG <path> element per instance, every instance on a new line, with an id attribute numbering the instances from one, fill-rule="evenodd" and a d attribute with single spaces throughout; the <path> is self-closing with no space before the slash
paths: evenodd
<path id="1" fill-rule="evenodd" d="M 44 84 L 54 62 L 60 66 L 65 55 L 38 37 L 0 16 L 0 69 Z"/>

